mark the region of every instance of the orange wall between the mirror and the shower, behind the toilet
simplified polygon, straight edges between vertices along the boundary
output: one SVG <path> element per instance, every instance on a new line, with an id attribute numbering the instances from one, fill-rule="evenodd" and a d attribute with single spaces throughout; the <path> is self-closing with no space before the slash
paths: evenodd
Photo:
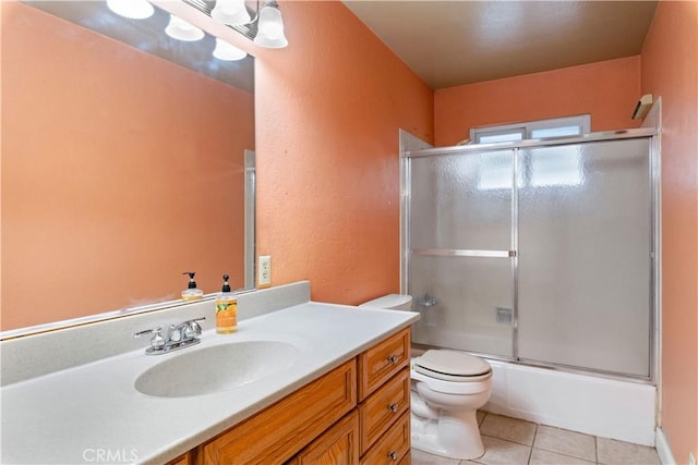
<path id="1" fill-rule="evenodd" d="M 338 1 L 281 2 L 258 50 L 257 253 L 316 301 L 399 290 L 398 129 L 433 138 L 433 93 Z"/>

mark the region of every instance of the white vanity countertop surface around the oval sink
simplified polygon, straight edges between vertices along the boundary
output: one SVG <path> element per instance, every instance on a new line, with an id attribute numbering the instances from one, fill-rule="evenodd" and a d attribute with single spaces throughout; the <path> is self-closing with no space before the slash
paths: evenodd
<path id="1" fill-rule="evenodd" d="M 311 302 L 243 320 L 232 334 L 205 331 L 201 344 L 170 354 L 132 351 L 5 386 L 0 390 L 0 462 L 165 463 L 418 318 L 414 313 Z M 134 388 L 139 375 L 168 357 L 249 340 L 290 342 L 299 357 L 263 380 L 213 394 L 166 399 Z"/>

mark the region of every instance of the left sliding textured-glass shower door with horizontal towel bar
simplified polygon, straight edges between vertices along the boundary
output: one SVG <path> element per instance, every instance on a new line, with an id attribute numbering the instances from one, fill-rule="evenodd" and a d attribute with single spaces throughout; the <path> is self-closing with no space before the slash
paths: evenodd
<path id="1" fill-rule="evenodd" d="M 410 159 L 413 341 L 510 357 L 514 150 Z"/>

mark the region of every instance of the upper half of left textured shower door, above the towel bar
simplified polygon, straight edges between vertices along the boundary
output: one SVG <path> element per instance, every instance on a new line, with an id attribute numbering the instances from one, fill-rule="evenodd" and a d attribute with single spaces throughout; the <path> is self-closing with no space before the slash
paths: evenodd
<path id="1" fill-rule="evenodd" d="M 412 248 L 508 250 L 513 154 L 412 159 Z"/>

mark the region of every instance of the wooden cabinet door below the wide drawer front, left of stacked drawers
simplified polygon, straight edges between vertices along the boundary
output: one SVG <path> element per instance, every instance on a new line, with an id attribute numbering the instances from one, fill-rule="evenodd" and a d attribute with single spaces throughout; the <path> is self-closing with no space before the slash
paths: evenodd
<path id="1" fill-rule="evenodd" d="M 348 414 L 314 440 L 291 462 L 293 465 L 357 465 L 359 463 L 359 415 Z"/>

